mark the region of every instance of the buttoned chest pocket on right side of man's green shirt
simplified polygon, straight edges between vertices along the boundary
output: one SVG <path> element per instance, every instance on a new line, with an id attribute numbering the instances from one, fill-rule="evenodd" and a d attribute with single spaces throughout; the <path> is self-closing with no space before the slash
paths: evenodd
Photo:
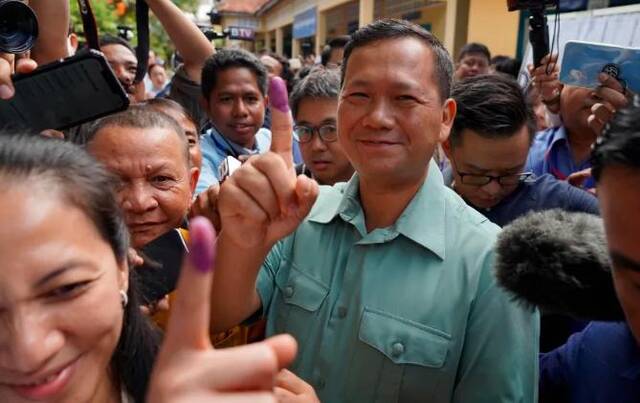
<path id="1" fill-rule="evenodd" d="M 446 377 L 451 336 L 383 311 L 365 308 L 347 386 L 348 401 L 431 401 Z M 455 376 L 455 373 L 452 375 Z M 353 385 L 353 387 L 351 386 Z"/>

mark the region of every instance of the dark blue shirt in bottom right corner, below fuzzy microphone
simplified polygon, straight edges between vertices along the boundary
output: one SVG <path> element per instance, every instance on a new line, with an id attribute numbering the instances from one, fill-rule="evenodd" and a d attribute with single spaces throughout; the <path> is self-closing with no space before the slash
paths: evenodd
<path id="1" fill-rule="evenodd" d="M 640 402 L 640 347 L 623 322 L 592 322 L 540 355 L 540 403 Z"/>

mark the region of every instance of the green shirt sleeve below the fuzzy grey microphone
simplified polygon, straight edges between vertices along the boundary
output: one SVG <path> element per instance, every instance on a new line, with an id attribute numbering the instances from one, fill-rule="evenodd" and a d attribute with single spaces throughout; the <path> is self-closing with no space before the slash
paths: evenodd
<path id="1" fill-rule="evenodd" d="M 535 403 L 538 312 L 513 302 L 498 287 L 493 275 L 494 252 L 487 250 L 483 255 L 452 402 Z"/>

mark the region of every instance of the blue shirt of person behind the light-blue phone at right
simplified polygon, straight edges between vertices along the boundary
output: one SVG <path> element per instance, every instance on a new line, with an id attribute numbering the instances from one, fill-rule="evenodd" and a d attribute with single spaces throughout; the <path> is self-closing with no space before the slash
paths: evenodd
<path id="1" fill-rule="evenodd" d="M 539 132 L 531 145 L 526 170 L 538 176 L 551 174 L 560 180 L 567 179 L 574 172 L 591 168 L 591 160 L 576 163 L 571 153 L 571 145 L 564 126 L 552 127 Z M 595 186 L 593 178 L 588 178 L 584 186 Z"/>

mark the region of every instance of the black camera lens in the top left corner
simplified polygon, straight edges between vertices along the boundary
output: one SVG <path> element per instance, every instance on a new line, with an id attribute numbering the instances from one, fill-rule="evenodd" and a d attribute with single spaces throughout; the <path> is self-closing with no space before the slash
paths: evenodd
<path id="1" fill-rule="evenodd" d="M 23 53 L 38 38 L 38 19 L 20 0 L 0 0 L 0 52 Z"/>

